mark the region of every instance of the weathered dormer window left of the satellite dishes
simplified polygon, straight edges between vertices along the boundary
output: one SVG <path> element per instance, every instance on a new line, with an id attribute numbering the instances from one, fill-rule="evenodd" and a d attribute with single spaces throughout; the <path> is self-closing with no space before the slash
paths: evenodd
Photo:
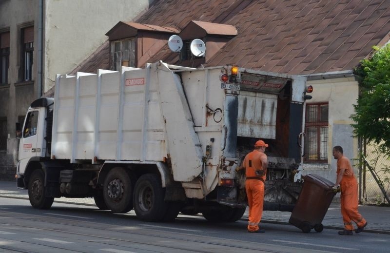
<path id="1" fill-rule="evenodd" d="M 111 42 L 111 69 L 119 71 L 120 66 L 136 67 L 136 39 Z"/>

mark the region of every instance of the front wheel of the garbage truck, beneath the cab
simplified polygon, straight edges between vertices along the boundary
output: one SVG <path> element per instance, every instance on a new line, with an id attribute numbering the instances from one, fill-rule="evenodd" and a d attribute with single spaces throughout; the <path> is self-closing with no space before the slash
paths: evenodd
<path id="1" fill-rule="evenodd" d="M 54 197 L 45 196 L 45 175 L 42 170 L 35 170 L 28 181 L 28 199 L 31 206 L 37 209 L 49 209 Z"/>

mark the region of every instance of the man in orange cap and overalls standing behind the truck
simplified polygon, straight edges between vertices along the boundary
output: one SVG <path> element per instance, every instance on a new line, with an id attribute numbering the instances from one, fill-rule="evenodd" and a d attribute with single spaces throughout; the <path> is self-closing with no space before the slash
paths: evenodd
<path id="1" fill-rule="evenodd" d="M 264 141 L 256 141 L 254 151 L 246 155 L 241 166 L 236 169 L 237 171 L 245 169 L 245 190 L 249 205 L 248 232 L 250 233 L 265 232 L 259 229 L 259 223 L 263 214 L 264 181 L 268 165 L 267 156 L 264 154 L 266 147 L 268 144 Z"/>

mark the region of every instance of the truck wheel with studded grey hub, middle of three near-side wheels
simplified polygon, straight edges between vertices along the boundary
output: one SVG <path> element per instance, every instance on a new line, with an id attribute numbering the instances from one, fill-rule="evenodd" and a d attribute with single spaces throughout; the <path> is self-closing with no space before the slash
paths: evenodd
<path id="1" fill-rule="evenodd" d="M 123 168 L 113 168 L 104 180 L 103 200 L 115 214 L 124 214 L 133 209 L 134 176 Z"/>

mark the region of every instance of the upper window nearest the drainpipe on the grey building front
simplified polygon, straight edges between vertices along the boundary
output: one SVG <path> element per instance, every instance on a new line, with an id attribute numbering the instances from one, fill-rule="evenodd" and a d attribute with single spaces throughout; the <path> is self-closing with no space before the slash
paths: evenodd
<path id="1" fill-rule="evenodd" d="M 21 30 L 21 66 L 23 69 L 23 81 L 31 81 L 33 79 L 33 55 L 34 55 L 34 26 L 23 28 Z"/>

